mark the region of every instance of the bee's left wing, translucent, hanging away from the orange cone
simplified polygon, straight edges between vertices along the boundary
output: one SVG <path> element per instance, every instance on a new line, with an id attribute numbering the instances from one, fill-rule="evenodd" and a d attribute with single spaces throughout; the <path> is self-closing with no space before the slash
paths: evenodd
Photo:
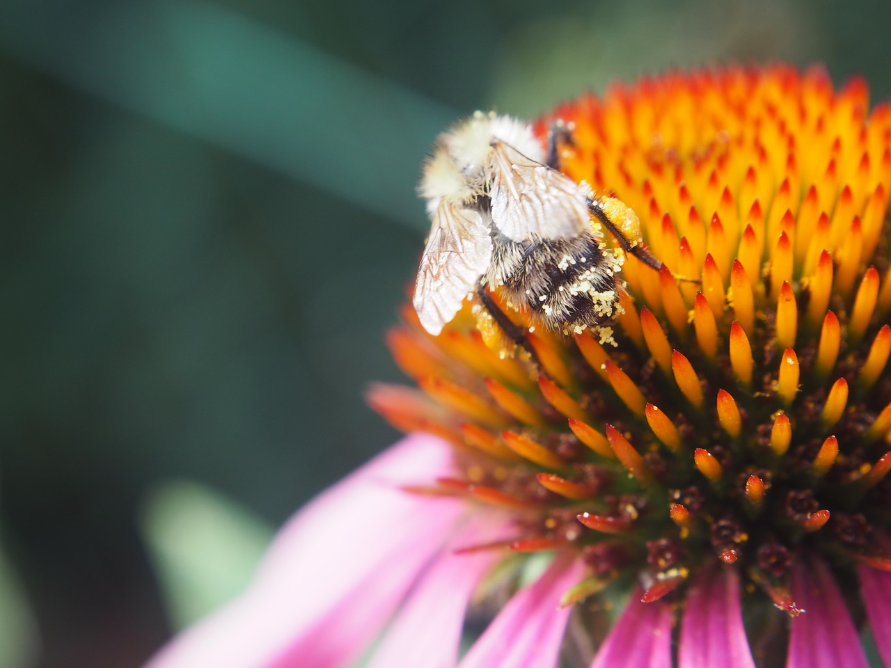
<path id="1" fill-rule="evenodd" d="M 488 214 L 442 201 L 433 215 L 421 257 L 413 305 L 421 324 L 436 336 L 461 310 L 492 259 Z"/>

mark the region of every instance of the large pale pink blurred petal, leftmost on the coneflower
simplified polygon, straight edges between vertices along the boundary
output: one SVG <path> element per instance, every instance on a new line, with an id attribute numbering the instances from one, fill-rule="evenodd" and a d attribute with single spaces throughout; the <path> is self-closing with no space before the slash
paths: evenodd
<path id="1" fill-rule="evenodd" d="M 149 667 L 349 663 L 466 510 L 454 499 L 399 489 L 449 475 L 452 455 L 437 438 L 409 436 L 316 497 L 282 528 L 248 590 L 174 639 Z"/>

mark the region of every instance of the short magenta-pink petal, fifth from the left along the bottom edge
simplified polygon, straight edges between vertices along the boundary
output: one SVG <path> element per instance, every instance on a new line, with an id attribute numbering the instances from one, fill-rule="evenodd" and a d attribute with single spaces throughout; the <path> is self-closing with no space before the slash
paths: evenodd
<path id="1" fill-rule="evenodd" d="M 701 574 L 687 593 L 679 668 L 755 668 L 742 625 L 740 576 L 717 567 Z"/>

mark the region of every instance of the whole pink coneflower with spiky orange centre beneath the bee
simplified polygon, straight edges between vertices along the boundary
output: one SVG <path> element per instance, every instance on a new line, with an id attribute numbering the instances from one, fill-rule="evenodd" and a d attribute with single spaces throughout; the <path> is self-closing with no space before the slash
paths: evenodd
<path id="1" fill-rule="evenodd" d="M 418 388 L 371 402 L 433 436 L 298 514 L 153 666 L 348 665 L 380 636 L 377 668 L 829 668 L 870 631 L 891 666 L 891 108 L 772 66 L 613 86 L 543 141 L 555 120 L 663 269 L 625 258 L 611 336 L 502 302 L 535 362 L 472 305 L 437 337 L 406 305 Z"/>

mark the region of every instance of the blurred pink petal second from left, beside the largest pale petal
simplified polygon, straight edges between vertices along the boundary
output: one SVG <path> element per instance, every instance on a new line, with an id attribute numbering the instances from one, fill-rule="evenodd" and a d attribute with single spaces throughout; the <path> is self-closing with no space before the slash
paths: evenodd
<path id="1" fill-rule="evenodd" d="M 497 524 L 462 525 L 461 543 L 455 547 L 506 539 L 515 532 L 513 524 L 499 518 Z M 421 576 L 366 668 L 454 668 L 470 595 L 482 575 L 502 558 L 501 550 L 443 551 Z"/>

